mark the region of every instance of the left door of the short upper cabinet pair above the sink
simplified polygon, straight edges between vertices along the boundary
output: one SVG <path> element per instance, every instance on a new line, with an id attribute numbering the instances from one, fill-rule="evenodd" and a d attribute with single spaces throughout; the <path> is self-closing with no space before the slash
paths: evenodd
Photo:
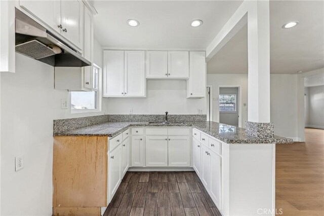
<path id="1" fill-rule="evenodd" d="M 146 52 L 146 77 L 168 77 L 168 51 Z"/>

